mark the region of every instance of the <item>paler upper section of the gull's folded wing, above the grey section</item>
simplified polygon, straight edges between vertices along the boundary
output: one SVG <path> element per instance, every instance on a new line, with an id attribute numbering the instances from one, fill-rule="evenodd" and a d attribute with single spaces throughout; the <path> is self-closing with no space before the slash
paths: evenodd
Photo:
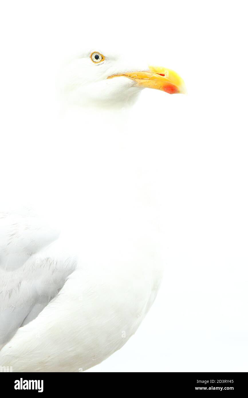
<path id="1" fill-rule="evenodd" d="M 59 236 L 32 209 L 0 212 L 0 269 L 13 270 Z"/>

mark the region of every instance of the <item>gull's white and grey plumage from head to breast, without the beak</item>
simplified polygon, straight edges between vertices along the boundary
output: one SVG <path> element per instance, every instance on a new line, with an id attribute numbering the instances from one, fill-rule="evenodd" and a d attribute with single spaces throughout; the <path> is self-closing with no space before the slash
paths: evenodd
<path id="1" fill-rule="evenodd" d="M 142 89 L 107 76 L 144 67 L 109 56 L 100 69 L 90 53 L 65 65 L 62 92 L 98 110 L 83 118 L 73 111 L 70 125 L 61 124 L 69 138 L 63 161 L 56 142 L 53 162 L 45 162 L 43 197 L 62 220 L 61 235 L 30 210 L 0 218 L 0 365 L 13 371 L 77 372 L 100 363 L 135 333 L 162 277 L 160 132 L 143 136 L 123 128 L 120 114 L 100 111 L 133 103 Z M 59 172 L 49 179 L 54 164 Z"/>

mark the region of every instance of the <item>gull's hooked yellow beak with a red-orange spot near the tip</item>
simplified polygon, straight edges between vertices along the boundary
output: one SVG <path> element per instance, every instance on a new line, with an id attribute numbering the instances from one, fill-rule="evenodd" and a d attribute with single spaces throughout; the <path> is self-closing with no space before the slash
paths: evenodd
<path id="1" fill-rule="evenodd" d="M 143 72 L 127 72 L 111 75 L 108 79 L 117 76 L 126 76 L 139 86 L 155 88 L 169 94 L 186 94 L 184 80 L 173 70 L 162 66 L 149 66 L 149 70 Z"/>

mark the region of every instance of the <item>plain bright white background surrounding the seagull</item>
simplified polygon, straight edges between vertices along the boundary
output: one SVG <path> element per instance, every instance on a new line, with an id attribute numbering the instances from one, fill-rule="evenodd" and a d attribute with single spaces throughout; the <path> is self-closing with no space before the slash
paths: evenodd
<path id="1" fill-rule="evenodd" d="M 188 90 L 144 90 L 137 104 L 144 133 L 164 130 L 166 270 L 135 336 L 89 371 L 248 371 L 246 15 L 243 1 L 23 0 L 1 7 L 4 204 L 36 186 L 32 162 L 57 106 L 53 82 L 63 56 L 92 43 L 140 53 L 176 70 Z M 27 152 L 23 182 L 18 170 Z"/>

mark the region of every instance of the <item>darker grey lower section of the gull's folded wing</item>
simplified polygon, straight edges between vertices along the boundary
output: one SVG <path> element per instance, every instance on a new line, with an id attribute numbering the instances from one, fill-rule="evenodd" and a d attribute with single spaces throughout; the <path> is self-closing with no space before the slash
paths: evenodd
<path id="1" fill-rule="evenodd" d="M 73 258 L 34 255 L 14 271 L 0 269 L 0 349 L 59 293 L 75 266 Z"/>

